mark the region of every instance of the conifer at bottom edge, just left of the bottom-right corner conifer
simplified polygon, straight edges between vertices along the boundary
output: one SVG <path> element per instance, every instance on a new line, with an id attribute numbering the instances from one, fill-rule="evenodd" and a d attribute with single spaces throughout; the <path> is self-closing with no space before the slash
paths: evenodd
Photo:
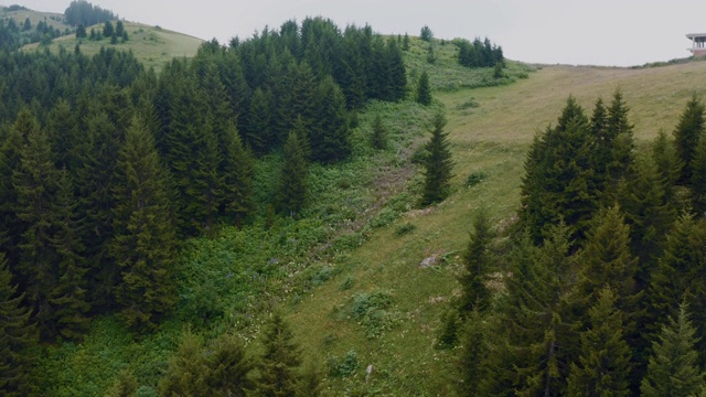
<path id="1" fill-rule="evenodd" d="M 630 347 L 623 340 L 622 312 L 610 288 L 599 292 L 589 310 L 578 364 L 571 363 L 569 396 L 630 396 Z"/>

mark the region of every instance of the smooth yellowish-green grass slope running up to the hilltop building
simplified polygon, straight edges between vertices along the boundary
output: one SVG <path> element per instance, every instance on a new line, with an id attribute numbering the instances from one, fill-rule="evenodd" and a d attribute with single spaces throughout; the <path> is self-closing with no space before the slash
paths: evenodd
<path id="1" fill-rule="evenodd" d="M 459 256 L 481 208 L 498 228 L 514 217 L 534 132 L 556 122 L 569 95 L 590 112 L 596 98 L 608 100 L 620 88 L 638 142 L 644 143 L 660 129 L 673 130 L 691 96 L 704 95 L 694 85 L 704 77 L 705 62 L 646 69 L 549 66 L 509 86 L 437 92 L 449 118 L 457 192 L 436 207 L 409 211 L 376 230 L 338 260 L 340 273 L 332 281 L 290 309 L 288 319 L 317 363 L 331 367 L 350 352 L 357 357 L 355 372 L 329 376 L 328 385 L 381 395 L 452 394 L 453 353 L 435 348 L 435 343 L 446 302 L 460 293 Z M 470 175 L 484 179 L 469 187 Z M 439 265 L 420 265 L 431 257 L 441 258 Z M 376 307 L 375 297 L 385 303 Z M 372 302 L 373 320 L 352 314 L 362 301 Z M 375 324 L 384 331 L 367 337 Z M 367 365 L 373 373 L 365 382 Z"/>

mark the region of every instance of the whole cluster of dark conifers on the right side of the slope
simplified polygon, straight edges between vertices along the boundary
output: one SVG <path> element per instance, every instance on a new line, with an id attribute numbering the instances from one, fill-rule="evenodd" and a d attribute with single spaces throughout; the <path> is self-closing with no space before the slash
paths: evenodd
<path id="1" fill-rule="evenodd" d="M 461 346 L 463 393 L 704 391 L 704 106 L 648 153 L 632 129 L 620 92 L 590 117 L 569 97 L 531 147 L 510 238 L 477 219 L 442 334 Z"/>

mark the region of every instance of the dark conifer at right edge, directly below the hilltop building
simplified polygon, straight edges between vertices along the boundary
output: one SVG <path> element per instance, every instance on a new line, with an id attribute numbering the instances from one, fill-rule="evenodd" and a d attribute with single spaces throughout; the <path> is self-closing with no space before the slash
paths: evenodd
<path id="1" fill-rule="evenodd" d="M 686 104 L 684 112 L 680 117 L 680 122 L 674 130 L 674 146 L 676 155 L 682 161 L 682 170 L 680 172 L 678 182 L 688 185 L 694 171 L 692 170 L 692 161 L 694 153 L 698 147 L 698 142 L 704 137 L 706 125 L 704 124 L 704 114 L 706 108 L 699 98 L 695 95 Z"/>

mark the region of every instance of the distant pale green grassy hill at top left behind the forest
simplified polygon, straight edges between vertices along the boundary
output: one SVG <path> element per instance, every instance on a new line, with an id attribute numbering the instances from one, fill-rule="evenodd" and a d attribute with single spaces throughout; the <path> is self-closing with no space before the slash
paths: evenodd
<path id="1" fill-rule="evenodd" d="M 74 34 L 55 39 L 50 51 L 58 52 L 60 47 L 66 51 L 74 51 L 76 44 L 81 45 L 81 51 L 86 55 L 92 55 L 100 51 L 101 46 L 115 47 L 116 50 L 132 51 L 135 56 L 146 66 L 160 69 L 162 65 L 173 57 L 192 57 L 196 54 L 199 46 L 203 40 L 186 34 L 169 31 L 160 26 L 148 26 L 135 22 L 124 22 L 128 32 L 129 40 L 125 43 L 110 44 L 109 39 L 100 41 L 90 41 L 87 39 L 78 40 Z M 89 33 L 90 29 L 96 32 L 103 31 L 103 24 L 86 28 Z M 24 51 L 36 51 L 39 44 L 31 44 L 23 47 Z"/>

